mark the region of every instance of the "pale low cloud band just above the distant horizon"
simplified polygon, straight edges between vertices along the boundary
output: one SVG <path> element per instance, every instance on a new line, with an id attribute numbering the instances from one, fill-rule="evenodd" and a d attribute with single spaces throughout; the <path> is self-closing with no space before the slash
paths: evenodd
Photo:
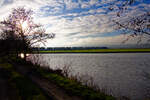
<path id="1" fill-rule="evenodd" d="M 137 41 L 139 37 L 130 38 L 125 43 L 122 43 L 128 38 L 128 35 L 118 35 L 112 37 L 87 37 L 87 38 L 68 38 L 68 37 L 58 37 L 49 41 L 48 46 L 52 47 L 67 47 L 67 46 L 127 46 L 127 45 L 138 45 Z M 147 39 L 142 40 L 140 44 L 147 44 Z"/>

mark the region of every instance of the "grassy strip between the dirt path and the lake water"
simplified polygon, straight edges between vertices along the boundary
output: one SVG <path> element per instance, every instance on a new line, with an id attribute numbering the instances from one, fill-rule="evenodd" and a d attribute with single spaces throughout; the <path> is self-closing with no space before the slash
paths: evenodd
<path id="1" fill-rule="evenodd" d="M 62 75 L 61 70 L 44 69 L 38 65 L 33 65 L 30 62 L 24 62 L 19 59 L 16 63 L 26 65 L 28 69 L 32 70 L 32 73 L 36 73 L 41 77 L 49 80 L 56 84 L 58 87 L 63 89 L 70 96 L 79 96 L 83 100 L 115 100 L 111 95 L 97 90 L 96 88 L 88 87 L 77 81 L 76 78 L 67 78 Z"/>

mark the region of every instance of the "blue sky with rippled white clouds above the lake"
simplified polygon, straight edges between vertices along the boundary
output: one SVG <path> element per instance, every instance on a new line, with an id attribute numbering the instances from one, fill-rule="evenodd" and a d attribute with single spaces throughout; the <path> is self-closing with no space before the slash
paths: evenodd
<path id="1" fill-rule="evenodd" d="M 11 13 L 12 8 L 25 7 L 34 11 L 35 23 L 41 23 L 47 33 L 56 35 L 47 41 L 47 47 L 137 45 L 138 37 L 122 44 L 128 35 L 115 30 L 112 20 L 117 19 L 117 9 L 108 10 L 115 1 L 117 0 L 0 0 L 0 21 Z M 150 0 L 135 1 L 135 4 L 128 6 L 123 19 L 150 9 Z M 119 0 L 116 4 L 120 5 L 121 2 Z M 140 44 L 147 44 L 147 39 L 142 39 Z"/>

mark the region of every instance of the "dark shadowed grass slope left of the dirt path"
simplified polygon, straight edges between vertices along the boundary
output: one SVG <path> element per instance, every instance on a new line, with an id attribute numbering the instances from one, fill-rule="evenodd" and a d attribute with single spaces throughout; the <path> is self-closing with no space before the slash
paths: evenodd
<path id="1" fill-rule="evenodd" d="M 0 68 L 3 71 L 3 73 L 1 73 L 1 77 L 5 76 L 5 80 L 8 80 L 6 84 L 9 84 L 9 91 L 6 91 L 7 99 L 5 98 L 1 100 L 49 99 L 46 97 L 43 91 L 37 85 L 35 85 L 28 77 L 18 73 L 15 70 L 14 66 L 10 63 L 10 59 L 7 56 L 0 58 Z"/>

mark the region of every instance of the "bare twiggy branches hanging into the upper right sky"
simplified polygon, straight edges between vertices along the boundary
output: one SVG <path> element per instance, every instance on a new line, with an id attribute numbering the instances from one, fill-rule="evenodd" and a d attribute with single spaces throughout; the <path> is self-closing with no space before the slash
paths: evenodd
<path id="1" fill-rule="evenodd" d="M 115 29 L 121 30 L 124 34 L 130 34 L 123 43 L 136 36 L 139 37 L 137 43 L 140 43 L 143 38 L 150 36 L 150 10 L 145 10 L 142 14 L 132 15 L 127 19 L 123 19 L 123 17 L 125 17 L 125 12 L 136 1 L 140 0 L 117 0 L 112 2 L 109 6 L 110 11 L 116 11 L 116 19 L 112 20 L 113 23 L 115 23 Z M 148 42 L 149 41 L 150 39 L 148 39 Z"/>

